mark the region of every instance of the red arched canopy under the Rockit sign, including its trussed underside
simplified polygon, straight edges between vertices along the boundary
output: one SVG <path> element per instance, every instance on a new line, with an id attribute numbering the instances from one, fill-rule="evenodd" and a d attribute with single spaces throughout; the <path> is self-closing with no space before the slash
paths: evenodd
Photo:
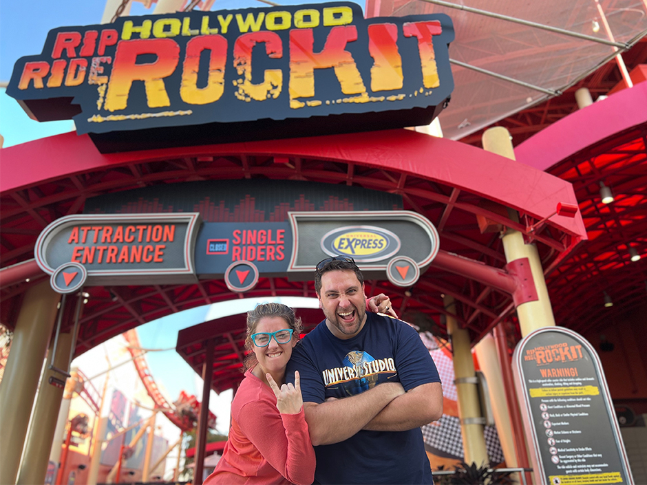
<path id="1" fill-rule="evenodd" d="M 88 197 L 158 184 L 172 191 L 170 184 L 196 180 L 310 180 L 399 194 L 405 209 L 438 229 L 438 261 L 457 255 L 460 261 L 478 261 L 477 266 L 503 268 L 499 231 L 508 227 L 538 242 L 544 268 L 550 271 L 586 239 L 579 215 L 555 215 L 537 230 L 531 227 L 554 213 L 558 203 L 577 204 L 568 182 L 469 145 L 407 130 L 114 154 L 98 153 L 89 138 L 68 133 L 3 150 L 1 175 L 3 268 L 31 259 L 41 230 L 55 219 L 81 212 Z M 510 219 L 507 208 L 519 211 L 520 222 Z M 3 279 L 14 283 L 2 290 L 0 316 L 8 327 L 15 324 L 25 288 L 45 276 L 34 264 L 8 268 L 26 268 L 23 276 L 32 268 L 30 281 L 19 284 L 3 270 Z M 90 296 L 77 354 L 171 312 L 235 297 L 222 280 L 86 290 Z M 399 315 L 422 327 L 440 324 L 441 329 L 441 294 L 453 295 L 460 302 L 458 321 L 474 339 L 514 308 L 509 293 L 433 263 L 412 288 L 367 281 L 366 292 L 386 292 Z M 265 295 L 314 297 L 315 292 L 312 283 L 284 277 L 261 278 L 246 292 L 250 297 Z"/>

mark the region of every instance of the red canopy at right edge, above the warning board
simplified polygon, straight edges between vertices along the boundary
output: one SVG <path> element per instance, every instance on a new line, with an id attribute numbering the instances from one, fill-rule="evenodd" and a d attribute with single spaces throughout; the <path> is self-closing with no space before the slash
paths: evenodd
<path id="1" fill-rule="evenodd" d="M 555 122 L 517 160 L 573 184 L 588 241 L 547 276 L 558 325 L 584 333 L 644 308 L 647 292 L 647 83 Z M 600 184 L 615 200 L 604 204 Z M 630 248 L 635 255 L 632 260 Z M 635 259 L 635 258 L 634 258 Z M 604 308 L 604 292 L 613 307 Z"/>

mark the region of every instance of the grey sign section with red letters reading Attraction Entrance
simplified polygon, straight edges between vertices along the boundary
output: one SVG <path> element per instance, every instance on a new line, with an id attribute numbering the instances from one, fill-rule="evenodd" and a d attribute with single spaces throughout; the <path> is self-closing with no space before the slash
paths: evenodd
<path id="1" fill-rule="evenodd" d="M 191 283 L 200 214 L 69 215 L 47 226 L 34 259 L 47 274 L 70 263 L 91 285 Z"/>

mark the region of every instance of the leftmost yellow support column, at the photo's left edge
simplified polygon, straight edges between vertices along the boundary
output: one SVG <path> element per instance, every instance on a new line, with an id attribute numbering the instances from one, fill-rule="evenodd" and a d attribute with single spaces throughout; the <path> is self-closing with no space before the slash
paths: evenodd
<path id="1" fill-rule="evenodd" d="M 25 293 L 0 384 L 0 484 L 15 484 L 43 360 L 61 295 L 49 279 Z M 49 443 L 48 443 L 49 446 Z"/>

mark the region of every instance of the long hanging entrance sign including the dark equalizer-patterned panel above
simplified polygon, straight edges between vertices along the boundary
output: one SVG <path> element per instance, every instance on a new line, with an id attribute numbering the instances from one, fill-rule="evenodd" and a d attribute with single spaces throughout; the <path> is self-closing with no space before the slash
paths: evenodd
<path id="1" fill-rule="evenodd" d="M 78 286 L 224 279 L 233 292 L 260 277 L 312 279 L 331 255 L 365 275 L 414 285 L 438 253 L 428 219 L 402 197 L 355 186 L 220 180 L 149 186 L 91 197 L 61 217 L 34 257 L 61 293 Z"/>

